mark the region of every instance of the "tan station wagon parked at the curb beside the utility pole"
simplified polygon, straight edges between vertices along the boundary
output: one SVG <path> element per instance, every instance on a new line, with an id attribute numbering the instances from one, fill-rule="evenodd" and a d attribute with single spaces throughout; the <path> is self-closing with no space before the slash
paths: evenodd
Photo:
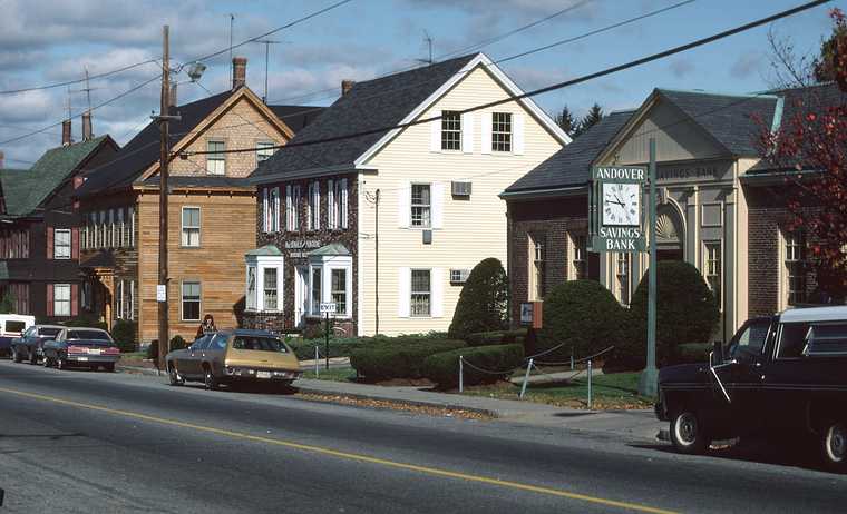
<path id="1" fill-rule="evenodd" d="M 236 382 L 274 382 L 289 385 L 300 378 L 294 350 L 263 330 L 231 329 L 196 339 L 166 357 L 171 385 L 203 382 L 207 389 Z"/>

